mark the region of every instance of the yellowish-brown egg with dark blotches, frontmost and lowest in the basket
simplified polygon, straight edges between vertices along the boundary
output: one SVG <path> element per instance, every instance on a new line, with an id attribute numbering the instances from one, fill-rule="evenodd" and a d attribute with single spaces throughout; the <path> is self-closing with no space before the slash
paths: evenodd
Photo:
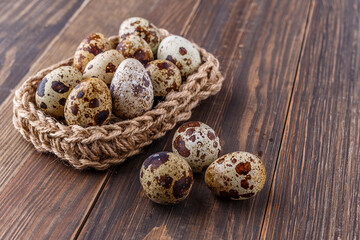
<path id="1" fill-rule="evenodd" d="M 88 78 L 69 94 L 65 105 L 65 120 L 69 125 L 101 126 L 111 116 L 111 96 L 106 83 Z"/>

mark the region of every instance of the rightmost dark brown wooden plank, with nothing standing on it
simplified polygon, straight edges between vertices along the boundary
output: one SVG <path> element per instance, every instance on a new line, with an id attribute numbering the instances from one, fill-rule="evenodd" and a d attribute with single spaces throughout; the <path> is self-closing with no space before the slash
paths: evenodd
<path id="1" fill-rule="evenodd" d="M 360 239 L 359 9 L 315 2 L 263 239 Z"/>

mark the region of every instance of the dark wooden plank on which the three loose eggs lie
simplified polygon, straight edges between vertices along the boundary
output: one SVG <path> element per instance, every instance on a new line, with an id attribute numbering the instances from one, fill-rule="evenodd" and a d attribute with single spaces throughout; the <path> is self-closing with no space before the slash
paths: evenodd
<path id="1" fill-rule="evenodd" d="M 219 57 L 226 79 L 222 91 L 197 107 L 192 119 L 220 133 L 224 153 L 259 154 L 269 176 L 264 190 L 252 200 L 223 201 L 207 189 L 203 174 L 196 174 L 185 202 L 150 202 L 141 190 L 139 169 L 150 154 L 171 150 L 171 131 L 116 168 L 81 239 L 142 239 L 160 226 L 173 239 L 260 236 L 309 6 L 295 0 L 202 1 L 184 33 Z"/>

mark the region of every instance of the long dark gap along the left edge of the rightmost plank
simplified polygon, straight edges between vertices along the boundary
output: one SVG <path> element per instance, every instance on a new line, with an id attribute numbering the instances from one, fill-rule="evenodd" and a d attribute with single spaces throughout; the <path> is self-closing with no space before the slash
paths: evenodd
<path id="1" fill-rule="evenodd" d="M 315 1 L 312 0 L 310 2 L 310 4 L 309 4 L 309 8 L 308 8 L 308 14 L 307 14 L 306 23 L 305 23 L 304 34 L 303 34 L 303 38 L 301 40 L 300 54 L 299 54 L 299 57 L 297 59 L 295 76 L 294 76 L 293 84 L 292 84 L 292 87 L 291 87 L 289 103 L 288 103 L 288 107 L 287 107 L 287 111 L 286 111 L 286 115 L 285 115 L 284 126 L 283 126 L 282 133 L 281 133 L 280 145 L 279 145 L 277 157 L 276 157 L 276 160 L 275 160 L 275 167 L 274 167 L 274 171 L 273 171 L 273 173 L 271 175 L 270 191 L 269 191 L 268 199 L 266 201 L 265 212 L 264 212 L 263 220 L 262 220 L 262 223 L 261 223 L 259 239 L 264 239 L 265 220 L 266 220 L 266 215 L 267 215 L 268 208 L 269 208 L 270 198 L 272 196 L 272 191 L 273 191 L 273 188 L 274 188 L 274 182 L 273 181 L 274 181 L 275 173 L 276 173 L 278 163 L 279 163 L 279 156 L 280 156 L 280 151 L 281 151 L 283 140 L 284 140 L 285 129 L 286 129 L 286 126 L 288 125 L 290 109 L 291 109 L 291 106 L 292 106 L 293 101 L 294 101 L 294 90 L 295 90 L 296 80 L 298 80 L 298 76 L 299 76 L 300 63 L 301 63 L 301 59 L 302 59 L 302 57 L 304 55 L 304 48 L 305 48 L 305 44 L 306 44 L 306 39 L 307 39 L 307 37 L 309 35 L 309 26 L 311 24 L 311 20 L 312 20 L 312 17 L 313 17 L 314 7 L 315 7 Z"/>

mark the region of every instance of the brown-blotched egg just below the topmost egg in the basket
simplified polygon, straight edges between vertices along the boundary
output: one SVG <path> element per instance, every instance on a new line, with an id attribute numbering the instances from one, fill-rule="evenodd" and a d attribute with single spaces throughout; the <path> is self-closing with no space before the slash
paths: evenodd
<path id="1" fill-rule="evenodd" d="M 144 65 L 154 60 L 149 44 L 136 35 L 123 35 L 116 50 L 125 58 L 135 58 Z"/>

